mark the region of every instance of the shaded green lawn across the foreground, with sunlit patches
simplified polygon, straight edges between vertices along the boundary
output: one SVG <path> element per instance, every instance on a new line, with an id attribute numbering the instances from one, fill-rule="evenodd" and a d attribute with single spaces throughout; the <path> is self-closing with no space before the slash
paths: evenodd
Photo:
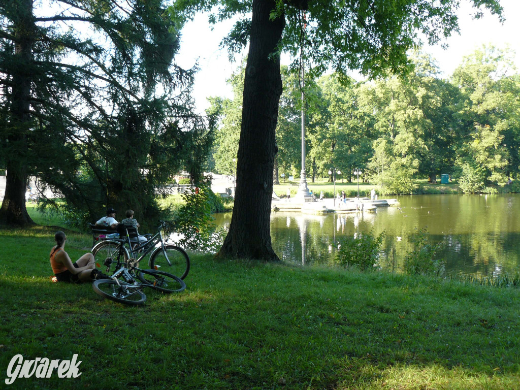
<path id="1" fill-rule="evenodd" d="M 9 388 L 520 389 L 517 289 L 193 256 L 185 292 L 127 307 L 51 283 L 53 235 L 0 230 L 0 371 L 78 354 L 82 375 Z"/>

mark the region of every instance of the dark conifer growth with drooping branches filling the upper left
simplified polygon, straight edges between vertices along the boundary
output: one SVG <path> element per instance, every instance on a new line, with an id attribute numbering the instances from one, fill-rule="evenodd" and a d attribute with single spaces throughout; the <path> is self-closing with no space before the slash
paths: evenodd
<path id="1" fill-rule="evenodd" d="M 110 204 L 140 219 L 172 172 L 200 175 L 210 138 L 190 108 L 193 70 L 172 64 L 182 15 L 162 0 L 7 0 L 0 14 L 0 222 L 32 223 L 28 175 L 90 218 Z"/>

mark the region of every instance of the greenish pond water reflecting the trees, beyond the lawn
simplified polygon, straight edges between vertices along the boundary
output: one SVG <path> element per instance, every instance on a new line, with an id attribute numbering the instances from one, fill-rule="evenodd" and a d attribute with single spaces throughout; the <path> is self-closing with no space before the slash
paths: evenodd
<path id="1" fill-rule="evenodd" d="M 398 207 L 376 213 L 305 215 L 271 213 L 271 238 L 284 262 L 327 264 L 335 243 L 357 232 L 385 232 L 379 266 L 402 270 L 412 249 L 410 238 L 426 228 L 428 242 L 440 243 L 437 258 L 448 274 L 512 275 L 520 270 L 520 194 L 414 195 L 398 198 Z M 228 227 L 231 214 L 217 215 Z M 303 248 L 303 249 L 302 249 Z"/>

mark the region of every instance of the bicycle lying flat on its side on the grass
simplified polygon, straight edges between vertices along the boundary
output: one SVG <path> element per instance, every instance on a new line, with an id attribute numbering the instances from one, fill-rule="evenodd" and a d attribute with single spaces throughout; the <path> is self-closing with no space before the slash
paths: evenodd
<path id="1" fill-rule="evenodd" d="M 164 293 L 181 292 L 186 289 L 186 283 L 168 272 L 153 269 L 140 269 L 132 266 L 126 268 L 119 264 L 118 270 L 112 279 L 98 279 L 92 283 L 94 291 L 102 297 L 125 305 L 144 305 L 146 295 L 142 290 L 152 288 Z M 140 282 L 135 280 L 132 272 L 136 273 Z M 119 280 L 123 277 L 123 280 Z"/>

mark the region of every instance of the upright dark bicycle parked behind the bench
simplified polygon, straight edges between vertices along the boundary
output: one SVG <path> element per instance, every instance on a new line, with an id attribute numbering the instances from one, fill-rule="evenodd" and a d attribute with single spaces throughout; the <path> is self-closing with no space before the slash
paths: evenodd
<path id="1" fill-rule="evenodd" d="M 125 238 L 112 238 L 100 241 L 92 248 L 92 254 L 95 258 L 102 258 L 102 263 L 107 267 L 107 272 L 109 272 L 111 266 L 118 263 L 125 264 L 127 268 L 131 268 L 131 266 L 138 267 L 139 262 L 151 252 L 148 261 L 150 269 L 159 270 L 163 268 L 164 271 L 184 280 L 190 270 L 190 259 L 184 249 L 177 245 L 167 243 L 167 240 L 166 243 L 164 242 L 161 229 L 165 226 L 166 223 L 160 221 L 157 233 L 148 241 L 137 243 L 135 248 L 133 248 L 135 242 L 132 242 L 131 239 L 138 240 L 137 230 L 119 224 L 118 232 Z M 157 246 L 159 243 L 160 246 Z M 126 244 L 128 248 L 125 246 Z M 141 251 L 142 253 L 140 253 Z M 137 257 L 137 255 L 139 255 L 139 257 Z M 121 261 L 121 258 L 123 258 L 123 261 Z"/>

